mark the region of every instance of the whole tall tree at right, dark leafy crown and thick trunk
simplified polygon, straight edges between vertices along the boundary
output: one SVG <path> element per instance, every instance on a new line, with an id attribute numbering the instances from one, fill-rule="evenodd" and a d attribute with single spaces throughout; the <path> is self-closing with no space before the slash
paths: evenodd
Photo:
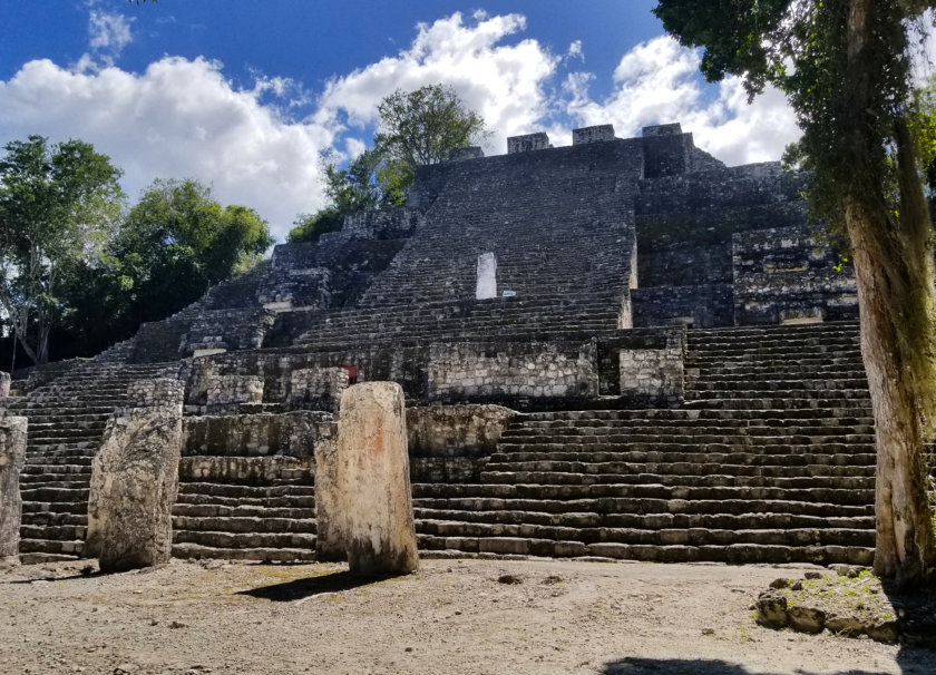
<path id="1" fill-rule="evenodd" d="M 878 469 L 875 570 L 922 584 L 936 562 L 925 448 L 936 421 L 933 226 L 914 137 L 911 31 L 920 0 L 660 0 L 702 71 L 772 84 L 796 110 L 791 158 L 811 173 L 816 215 L 850 242 Z"/>

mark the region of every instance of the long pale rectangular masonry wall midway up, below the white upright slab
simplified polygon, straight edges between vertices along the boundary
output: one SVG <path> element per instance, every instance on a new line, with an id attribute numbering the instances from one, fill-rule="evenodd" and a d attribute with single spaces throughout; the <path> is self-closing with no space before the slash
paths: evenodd
<path id="1" fill-rule="evenodd" d="M 462 342 L 430 349 L 430 400 L 587 399 L 597 391 L 594 342 Z"/>

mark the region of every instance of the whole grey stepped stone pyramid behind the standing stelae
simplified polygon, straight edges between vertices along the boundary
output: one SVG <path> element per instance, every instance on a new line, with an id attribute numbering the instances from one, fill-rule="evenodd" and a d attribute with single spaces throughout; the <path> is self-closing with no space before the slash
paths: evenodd
<path id="1" fill-rule="evenodd" d="M 21 559 L 88 552 L 105 429 L 172 380 L 175 556 L 314 559 L 318 473 L 321 552 L 340 557 L 339 403 L 391 381 L 423 554 L 869 562 L 855 282 L 801 177 L 725 167 L 675 124 L 572 140 L 464 148 L 406 207 L 13 380 Z"/>

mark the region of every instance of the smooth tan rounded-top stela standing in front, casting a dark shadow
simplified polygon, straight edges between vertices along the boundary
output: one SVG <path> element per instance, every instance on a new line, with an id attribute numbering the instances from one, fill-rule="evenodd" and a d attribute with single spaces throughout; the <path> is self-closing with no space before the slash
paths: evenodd
<path id="1" fill-rule="evenodd" d="M 341 395 L 338 492 L 351 571 L 415 571 L 419 558 L 399 384 L 365 382 Z"/>

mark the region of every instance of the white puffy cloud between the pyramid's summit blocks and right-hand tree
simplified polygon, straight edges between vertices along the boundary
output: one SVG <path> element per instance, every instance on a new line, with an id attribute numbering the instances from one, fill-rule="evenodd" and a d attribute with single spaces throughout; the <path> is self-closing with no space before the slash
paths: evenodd
<path id="1" fill-rule="evenodd" d="M 733 164 L 777 159 L 799 138 L 792 110 L 778 90 L 768 88 L 749 105 L 738 78 L 713 91 L 699 76 L 699 52 L 669 38 L 637 45 L 614 71 L 614 88 L 594 100 L 594 76 L 566 76 L 566 110 L 581 126 L 613 124 L 618 137 L 636 136 L 641 127 L 671 121 L 692 131 L 698 146 Z"/>

